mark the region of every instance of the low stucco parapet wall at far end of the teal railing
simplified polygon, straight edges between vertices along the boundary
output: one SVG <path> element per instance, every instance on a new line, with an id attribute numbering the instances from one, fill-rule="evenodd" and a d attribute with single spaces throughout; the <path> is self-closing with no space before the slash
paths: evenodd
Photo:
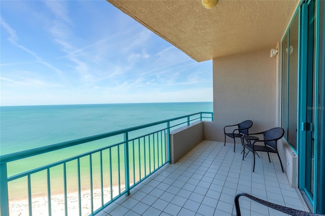
<path id="1" fill-rule="evenodd" d="M 176 163 L 203 140 L 203 122 L 194 122 L 170 132 L 170 161 Z"/>

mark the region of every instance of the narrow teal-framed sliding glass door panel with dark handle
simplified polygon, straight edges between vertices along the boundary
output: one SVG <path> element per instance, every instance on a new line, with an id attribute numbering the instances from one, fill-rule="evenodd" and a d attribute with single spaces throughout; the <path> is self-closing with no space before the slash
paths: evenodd
<path id="1" fill-rule="evenodd" d="M 315 2 L 302 5 L 301 16 L 301 103 L 300 103 L 300 188 L 314 201 L 315 156 Z"/>

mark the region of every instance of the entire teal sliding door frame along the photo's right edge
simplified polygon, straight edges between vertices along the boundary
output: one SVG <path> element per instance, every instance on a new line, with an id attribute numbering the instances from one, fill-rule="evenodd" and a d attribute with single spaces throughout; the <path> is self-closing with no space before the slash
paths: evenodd
<path id="1" fill-rule="evenodd" d="M 299 188 L 304 190 L 313 205 L 314 213 L 325 213 L 324 205 L 324 150 L 323 147 L 325 143 L 321 143 L 320 140 L 324 140 L 324 131 L 319 131 L 323 126 L 319 123 L 324 121 L 323 106 L 321 104 L 321 99 L 319 98 L 321 94 L 319 85 L 323 85 L 319 81 L 319 78 L 324 76 L 323 68 L 320 71 L 319 65 L 323 65 L 323 59 L 320 59 L 320 52 L 324 52 L 324 44 L 322 42 L 320 46 L 320 39 L 324 41 L 323 34 L 320 34 L 320 30 L 323 32 L 323 21 L 322 26 L 320 26 L 319 20 L 323 17 L 320 14 L 319 5 L 320 1 L 303 1 L 301 4 L 301 19 L 300 19 L 300 71 L 299 71 Z M 312 8 L 310 8 L 312 7 Z M 314 9 L 315 7 L 315 9 Z M 314 10 L 313 10 L 314 9 Z M 313 13 L 313 14 L 311 14 Z M 323 13 L 323 9 L 322 9 Z M 311 17 L 314 17 L 314 28 L 309 29 L 311 22 Z M 312 17 L 312 18 L 313 18 Z M 310 32 L 313 31 L 313 32 Z M 311 34 L 314 33 L 313 39 L 311 39 Z M 322 36 L 321 36 L 322 35 Z M 313 46 L 314 49 L 310 49 Z M 313 57 L 312 63 L 310 65 L 311 56 Z M 309 60 L 308 60 L 309 58 Z M 313 70 L 312 72 L 310 70 Z M 310 76 L 314 73 L 314 76 Z M 312 80 L 310 80 L 312 79 Z M 323 82 L 323 81 L 322 81 Z M 308 86 L 311 85 L 311 86 Z M 312 89 L 311 89 L 312 88 Z M 310 93 L 312 90 L 312 93 Z M 308 93 L 309 91 L 309 93 Z M 323 95 L 324 96 L 324 95 Z M 310 98 L 312 97 L 312 98 Z M 309 100 L 309 102 L 308 102 Z M 311 103 L 312 100 L 312 103 Z M 320 100 L 320 101 L 319 101 Z M 323 102 L 323 101 L 322 101 Z M 310 107 L 310 104 L 311 107 Z M 310 117 L 310 112 L 314 112 L 312 120 L 308 120 Z M 323 123 L 322 123 L 323 125 Z M 312 137 L 310 137 L 312 136 Z M 308 139 L 314 139 L 314 146 L 310 146 Z M 310 140 L 311 140 L 310 139 Z M 309 145 L 309 146 L 307 146 Z M 313 154 L 314 160 L 311 159 Z M 310 157 L 310 158 L 309 158 Z"/>

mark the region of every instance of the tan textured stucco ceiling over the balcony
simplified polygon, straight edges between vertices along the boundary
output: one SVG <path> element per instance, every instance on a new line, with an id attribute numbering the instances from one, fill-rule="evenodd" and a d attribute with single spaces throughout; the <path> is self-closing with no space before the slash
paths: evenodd
<path id="1" fill-rule="evenodd" d="M 299 0 L 107 0 L 197 61 L 275 47 Z"/>

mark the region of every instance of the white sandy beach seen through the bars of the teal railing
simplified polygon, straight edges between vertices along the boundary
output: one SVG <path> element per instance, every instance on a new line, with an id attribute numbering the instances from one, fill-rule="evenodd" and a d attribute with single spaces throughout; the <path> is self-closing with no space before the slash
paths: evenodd
<path id="1" fill-rule="evenodd" d="M 124 191 L 125 187 L 121 187 Z M 112 189 L 113 198 L 118 195 L 118 187 Z M 93 210 L 102 206 L 101 190 L 93 190 Z M 110 188 L 104 189 L 104 204 L 110 201 Z M 70 193 L 67 196 L 68 200 L 68 215 L 79 215 L 78 193 Z M 28 215 L 28 200 L 9 202 L 10 216 Z M 51 212 L 52 215 L 64 215 L 64 196 L 51 196 Z M 91 213 L 90 191 L 81 192 L 81 212 L 82 215 L 89 215 Z M 48 215 L 48 198 L 36 197 L 32 198 L 32 215 Z"/>

